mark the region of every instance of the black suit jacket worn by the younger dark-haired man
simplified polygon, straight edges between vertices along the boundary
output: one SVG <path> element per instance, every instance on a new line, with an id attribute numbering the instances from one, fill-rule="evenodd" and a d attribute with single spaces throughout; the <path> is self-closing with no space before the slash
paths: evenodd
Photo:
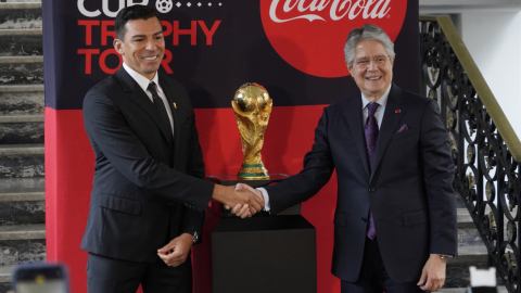
<path id="1" fill-rule="evenodd" d="M 157 250 L 180 233 L 201 234 L 214 184 L 200 179 L 204 163 L 192 105 L 179 82 L 160 75 L 160 85 L 170 105 L 174 141 L 123 66 L 85 98 L 96 165 L 82 250 L 154 263 Z"/>

